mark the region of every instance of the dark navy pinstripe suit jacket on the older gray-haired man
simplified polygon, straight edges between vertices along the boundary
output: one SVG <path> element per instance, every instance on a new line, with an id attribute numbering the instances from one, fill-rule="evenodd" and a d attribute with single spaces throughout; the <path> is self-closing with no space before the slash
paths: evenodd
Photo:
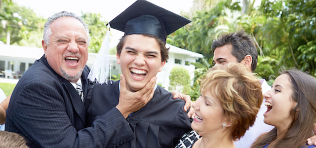
<path id="1" fill-rule="evenodd" d="M 81 76 L 87 94 L 89 68 Z M 21 77 L 6 110 L 6 131 L 27 139 L 31 148 L 98 148 L 128 142 L 133 132 L 116 109 L 84 128 L 85 108 L 73 85 L 41 57 Z"/>

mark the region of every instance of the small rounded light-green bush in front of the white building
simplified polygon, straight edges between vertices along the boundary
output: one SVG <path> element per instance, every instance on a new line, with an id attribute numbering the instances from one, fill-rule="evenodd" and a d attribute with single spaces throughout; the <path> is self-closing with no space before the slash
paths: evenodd
<path id="1" fill-rule="evenodd" d="M 172 68 L 170 75 L 169 91 L 176 90 L 178 92 L 189 94 L 191 92 L 190 74 L 183 67 Z"/>

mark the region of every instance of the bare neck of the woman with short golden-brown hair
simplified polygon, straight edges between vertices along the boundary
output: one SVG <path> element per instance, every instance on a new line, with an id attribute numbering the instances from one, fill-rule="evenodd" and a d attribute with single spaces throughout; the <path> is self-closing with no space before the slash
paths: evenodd
<path id="1" fill-rule="evenodd" d="M 221 134 L 209 134 L 202 136 L 194 144 L 193 148 L 236 148 L 232 140 L 232 134 L 224 132 Z"/>

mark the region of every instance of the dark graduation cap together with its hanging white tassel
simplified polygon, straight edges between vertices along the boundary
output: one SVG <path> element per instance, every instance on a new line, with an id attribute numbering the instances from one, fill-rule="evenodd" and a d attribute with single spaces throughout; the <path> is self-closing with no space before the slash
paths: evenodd
<path id="1" fill-rule="evenodd" d="M 150 34 L 158 37 L 164 43 L 167 35 L 173 33 L 191 21 L 146 0 L 137 0 L 116 18 L 110 21 L 111 28 L 125 33 L 124 36 L 133 34 Z M 107 42 L 107 43 L 105 43 Z M 109 68 L 109 33 L 101 45 L 99 54 L 92 65 L 88 78 L 91 81 L 104 83 L 111 69 Z M 107 47 L 105 44 L 107 44 Z M 110 70 L 109 70 L 110 69 Z M 92 76 L 93 75 L 93 76 Z M 100 78 L 101 77 L 101 78 Z"/>

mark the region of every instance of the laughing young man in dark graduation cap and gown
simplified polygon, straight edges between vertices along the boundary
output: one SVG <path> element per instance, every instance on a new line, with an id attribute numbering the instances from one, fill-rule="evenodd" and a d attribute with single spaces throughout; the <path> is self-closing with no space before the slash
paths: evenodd
<path id="1" fill-rule="evenodd" d="M 117 63 L 126 86 L 115 81 L 91 87 L 86 104 L 87 126 L 117 106 L 119 89 L 138 91 L 163 69 L 168 59 L 167 35 L 189 22 L 146 0 L 137 0 L 110 22 L 111 28 L 125 32 L 117 46 Z M 174 100 L 170 92 L 157 84 L 155 89 L 153 99 L 145 107 L 125 116 L 135 139 L 109 144 L 108 147 L 173 148 L 191 129 L 190 120 L 183 110 L 184 101 Z"/>

